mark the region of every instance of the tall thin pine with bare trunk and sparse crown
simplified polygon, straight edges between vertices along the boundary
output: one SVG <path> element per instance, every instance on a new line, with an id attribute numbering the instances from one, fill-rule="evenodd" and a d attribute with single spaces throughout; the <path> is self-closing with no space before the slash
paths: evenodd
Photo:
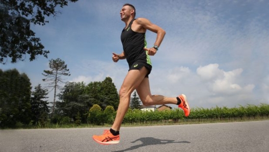
<path id="1" fill-rule="evenodd" d="M 47 88 L 52 88 L 51 90 L 54 90 L 54 97 L 53 97 L 53 103 L 52 103 L 52 110 L 51 110 L 51 116 L 54 113 L 55 110 L 55 103 L 56 103 L 56 90 L 61 89 L 61 85 L 63 84 L 63 78 L 62 75 L 64 76 L 70 76 L 69 69 L 67 69 L 67 65 L 65 64 L 64 61 L 61 59 L 57 58 L 56 60 L 49 60 L 49 68 L 51 70 L 44 70 L 44 75 L 46 78 L 43 79 L 44 82 L 49 82 L 47 83 Z"/>

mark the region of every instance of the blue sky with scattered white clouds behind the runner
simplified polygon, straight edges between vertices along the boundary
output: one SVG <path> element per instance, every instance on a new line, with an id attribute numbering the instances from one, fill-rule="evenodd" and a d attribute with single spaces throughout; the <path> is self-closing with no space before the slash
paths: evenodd
<path id="1" fill-rule="evenodd" d="M 42 82 L 50 59 L 60 58 L 70 70 L 69 82 L 103 81 L 111 77 L 120 89 L 128 71 L 126 60 L 112 61 L 123 50 L 120 34 L 125 24 L 120 10 L 125 3 L 166 31 L 149 75 L 152 94 L 185 94 L 191 108 L 239 107 L 269 104 L 269 1 L 88 1 L 59 8 L 45 26 L 32 24 L 48 58 L 0 64 L 18 69 Z M 156 34 L 147 31 L 148 47 Z M 10 59 L 9 59 L 10 61 Z M 59 91 L 58 91 L 59 93 Z M 52 92 L 49 101 L 52 102 Z M 173 108 L 176 105 L 169 105 Z"/>

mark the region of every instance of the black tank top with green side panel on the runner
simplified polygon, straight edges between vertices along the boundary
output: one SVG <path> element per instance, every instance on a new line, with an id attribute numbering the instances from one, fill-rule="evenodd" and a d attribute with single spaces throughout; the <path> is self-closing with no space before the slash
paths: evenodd
<path id="1" fill-rule="evenodd" d="M 143 62 L 151 65 L 150 58 L 144 50 L 144 47 L 147 45 L 145 33 L 134 32 L 131 29 L 134 20 L 131 20 L 128 27 L 123 29 L 121 33 L 121 42 L 126 60 L 129 67 L 134 62 Z"/>

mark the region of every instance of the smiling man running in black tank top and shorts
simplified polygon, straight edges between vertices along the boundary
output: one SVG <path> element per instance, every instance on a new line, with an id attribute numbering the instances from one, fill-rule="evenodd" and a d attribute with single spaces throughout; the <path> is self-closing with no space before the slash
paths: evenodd
<path id="1" fill-rule="evenodd" d="M 190 114 L 190 107 L 184 94 L 177 97 L 166 97 L 151 95 L 150 92 L 148 75 L 152 66 L 149 56 L 154 56 L 157 53 L 166 32 L 146 18 L 136 19 L 136 9 L 131 4 L 124 4 L 120 15 L 121 20 L 125 22 L 125 28 L 121 33 L 123 52 L 121 54 L 112 53 L 112 60 L 118 62 L 126 59 L 129 70 L 119 91 L 120 103 L 111 129 L 105 130 L 100 136 L 93 136 L 93 139 L 100 144 L 117 144 L 120 142 L 120 126 L 129 108 L 130 96 L 134 90 L 137 91 L 145 106 L 175 104 L 183 109 L 185 116 Z M 147 30 L 157 34 L 155 43 L 151 48 L 146 46 L 145 33 Z"/>

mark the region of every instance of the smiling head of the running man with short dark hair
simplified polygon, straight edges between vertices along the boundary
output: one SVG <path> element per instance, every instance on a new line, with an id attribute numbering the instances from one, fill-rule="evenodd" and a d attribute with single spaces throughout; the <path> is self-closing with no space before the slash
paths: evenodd
<path id="1" fill-rule="evenodd" d="M 120 14 L 121 14 L 121 20 L 125 21 L 128 20 L 128 18 L 130 17 L 132 18 L 136 17 L 136 9 L 134 8 L 133 5 L 127 3 L 122 6 Z"/>

